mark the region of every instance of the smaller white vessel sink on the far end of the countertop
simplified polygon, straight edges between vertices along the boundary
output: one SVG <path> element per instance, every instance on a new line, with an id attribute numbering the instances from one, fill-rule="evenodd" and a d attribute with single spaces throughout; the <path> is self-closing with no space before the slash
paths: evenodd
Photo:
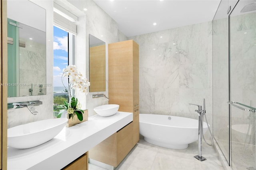
<path id="1" fill-rule="evenodd" d="M 119 105 L 102 105 L 94 108 L 94 111 L 103 117 L 112 116 L 114 115 L 119 109 Z"/>

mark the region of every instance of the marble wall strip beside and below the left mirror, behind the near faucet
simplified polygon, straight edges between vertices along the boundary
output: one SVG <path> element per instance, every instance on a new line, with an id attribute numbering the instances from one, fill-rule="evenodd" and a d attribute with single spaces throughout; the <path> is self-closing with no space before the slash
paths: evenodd
<path id="1" fill-rule="evenodd" d="M 46 83 L 53 83 L 53 2 L 45 0 L 31 0 L 46 9 Z M 27 108 L 8 110 L 8 128 L 29 122 L 53 118 L 53 86 L 46 87 L 46 95 L 9 97 L 8 103 L 40 100 L 42 105 L 36 106 L 37 115 L 32 115 Z"/>

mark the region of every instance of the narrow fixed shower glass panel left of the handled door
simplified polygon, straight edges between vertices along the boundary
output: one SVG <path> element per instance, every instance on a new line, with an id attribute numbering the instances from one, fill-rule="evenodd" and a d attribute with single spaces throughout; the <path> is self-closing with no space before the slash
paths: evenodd
<path id="1" fill-rule="evenodd" d="M 230 162 L 229 142 L 229 59 L 228 59 L 228 1 L 222 0 L 212 21 L 212 107 L 213 136 Z"/>

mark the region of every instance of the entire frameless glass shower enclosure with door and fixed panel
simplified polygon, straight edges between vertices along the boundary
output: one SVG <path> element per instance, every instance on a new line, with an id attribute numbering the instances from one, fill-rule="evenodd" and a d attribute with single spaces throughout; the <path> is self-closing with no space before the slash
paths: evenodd
<path id="1" fill-rule="evenodd" d="M 213 135 L 233 169 L 256 169 L 256 0 L 231 12 L 222 0 L 213 28 Z"/>

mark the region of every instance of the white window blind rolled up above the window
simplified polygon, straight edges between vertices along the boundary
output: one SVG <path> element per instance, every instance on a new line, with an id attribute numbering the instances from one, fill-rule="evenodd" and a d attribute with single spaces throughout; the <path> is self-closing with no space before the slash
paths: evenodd
<path id="1" fill-rule="evenodd" d="M 53 14 L 53 23 L 55 26 L 64 29 L 66 32 L 76 35 L 76 24 L 56 12 Z"/>

